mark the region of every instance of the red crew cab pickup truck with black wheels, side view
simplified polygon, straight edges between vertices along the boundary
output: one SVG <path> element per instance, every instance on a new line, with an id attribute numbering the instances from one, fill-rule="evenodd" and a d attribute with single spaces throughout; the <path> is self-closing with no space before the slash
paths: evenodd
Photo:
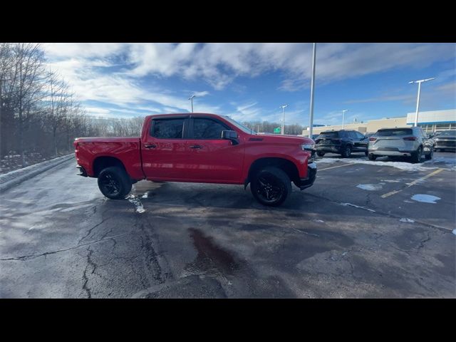
<path id="1" fill-rule="evenodd" d="M 98 177 L 100 191 L 122 199 L 138 180 L 249 185 L 265 205 L 278 206 L 291 182 L 314 184 L 314 140 L 257 134 L 224 115 L 149 115 L 140 138 L 76 138 L 80 175 Z"/>

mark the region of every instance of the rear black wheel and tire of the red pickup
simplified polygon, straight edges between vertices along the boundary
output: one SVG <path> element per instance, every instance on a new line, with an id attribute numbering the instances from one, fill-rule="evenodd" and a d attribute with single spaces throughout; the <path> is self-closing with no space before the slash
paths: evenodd
<path id="1" fill-rule="evenodd" d="M 98 175 L 98 188 L 109 199 L 123 199 L 131 191 L 127 172 L 118 166 L 106 167 Z"/>

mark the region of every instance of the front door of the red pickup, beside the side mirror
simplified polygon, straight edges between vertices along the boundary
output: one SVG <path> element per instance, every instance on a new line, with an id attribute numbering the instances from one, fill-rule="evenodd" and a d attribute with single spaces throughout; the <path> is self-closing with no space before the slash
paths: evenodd
<path id="1" fill-rule="evenodd" d="M 242 177 L 242 142 L 222 139 L 222 130 L 234 128 L 216 118 L 190 118 L 187 177 L 194 182 L 239 183 Z"/>

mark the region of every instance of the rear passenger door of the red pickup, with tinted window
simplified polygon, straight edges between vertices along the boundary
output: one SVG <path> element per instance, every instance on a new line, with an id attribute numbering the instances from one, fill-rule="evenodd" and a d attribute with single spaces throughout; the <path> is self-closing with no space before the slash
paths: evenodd
<path id="1" fill-rule="evenodd" d="M 187 140 L 189 118 L 154 118 L 142 141 L 142 170 L 147 179 L 180 179 L 188 162 Z"/>

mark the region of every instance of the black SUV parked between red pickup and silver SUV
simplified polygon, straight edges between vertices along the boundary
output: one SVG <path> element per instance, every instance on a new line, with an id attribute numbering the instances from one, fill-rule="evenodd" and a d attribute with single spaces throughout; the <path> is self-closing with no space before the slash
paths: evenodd
<path id="1" fill-rule="evenodd" d="M 315 140 L 316 154 L 323 157 L 332 152 L 350 157 L 351 152 L 364 152 L 368 155 L 369 139 L 357 130 L 328 130 L 321 132 Z"/>

